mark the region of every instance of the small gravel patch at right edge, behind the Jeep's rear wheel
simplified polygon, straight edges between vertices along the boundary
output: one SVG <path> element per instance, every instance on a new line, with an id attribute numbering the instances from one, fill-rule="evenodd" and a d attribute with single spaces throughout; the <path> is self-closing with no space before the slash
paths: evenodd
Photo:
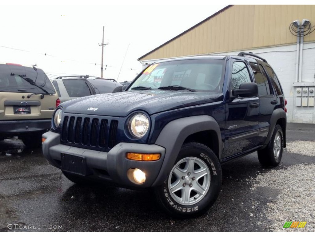
<path id="1" fill-rule="evenodd" d="M 286 150 L 307 156 L 315 156 L 315 141 L 293 141 L 287 143 Z"/>

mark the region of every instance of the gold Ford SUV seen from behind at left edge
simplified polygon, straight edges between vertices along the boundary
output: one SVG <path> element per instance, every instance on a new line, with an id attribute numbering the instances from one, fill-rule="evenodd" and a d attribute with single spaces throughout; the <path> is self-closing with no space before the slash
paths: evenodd
<path id="1" fill-rule="evenodd" d="M 37 66 L 0 64 L 0 140 L 18 136 L 27 147 L 39 147 L 59 103 L 53 84 Z"/>

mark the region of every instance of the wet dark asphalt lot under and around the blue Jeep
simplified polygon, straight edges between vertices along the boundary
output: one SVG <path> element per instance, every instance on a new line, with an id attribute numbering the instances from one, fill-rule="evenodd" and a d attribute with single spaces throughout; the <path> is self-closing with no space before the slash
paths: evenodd
<path id="1" fill-rule="evenodd" d="M 288 124 L 287 142 L 294 140 L 315 140 L 315 125 Z M 25 149 L 20 140 L 0 141 L 0 154 L 0 231 L 266 231 L 263 209 L 278 196 L 250 189 L 250 178 L 270 171 L 256 153 L 224 164 L 217 201 L 205 215 L 187 220 L 164 214 L 148 191 L 77 186 L 46 162 L 41 149 Z M 314 162 L 284 151 L 277 168 Z M 251 217 L 253 211 L 258 214 Z"/>

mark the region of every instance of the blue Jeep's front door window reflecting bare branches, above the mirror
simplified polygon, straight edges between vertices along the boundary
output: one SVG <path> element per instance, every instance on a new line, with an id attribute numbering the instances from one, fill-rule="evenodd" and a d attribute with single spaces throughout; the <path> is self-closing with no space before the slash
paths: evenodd
<path id="1" fill-rule="evenodd" d="M 242 83 L 250 83 L 250 77 L 244 62 L 234 62 L 231 76 L 231 89 L 238 89 Z"/>

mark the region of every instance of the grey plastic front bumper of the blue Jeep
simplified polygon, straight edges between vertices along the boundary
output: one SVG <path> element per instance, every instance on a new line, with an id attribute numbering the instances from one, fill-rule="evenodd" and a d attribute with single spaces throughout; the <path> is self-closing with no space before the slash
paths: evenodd
<path id="1" fill-rule="evenodd" d="M 152 187 L 165 156 L 165 149 L 156 144 L 118 143 L 109 152 L 101 152 L 60 144 L 60 134 L 51 131 L 44 133 L 43 138 L 46 138 L 42 145 L 43 155 L 51 165 L 62 169 L 62 155 L 83 157 L 87 168 L 85 178 L 111 182 L 126 188 Z M 161 158 L 156 161 L 128 160 L 126 158 L 128 152 L 160 153 Z M 130 168 L 138 168 L 145 172 L 146 181 L 142 184 L 130 181 L 127 176 Z"/>

